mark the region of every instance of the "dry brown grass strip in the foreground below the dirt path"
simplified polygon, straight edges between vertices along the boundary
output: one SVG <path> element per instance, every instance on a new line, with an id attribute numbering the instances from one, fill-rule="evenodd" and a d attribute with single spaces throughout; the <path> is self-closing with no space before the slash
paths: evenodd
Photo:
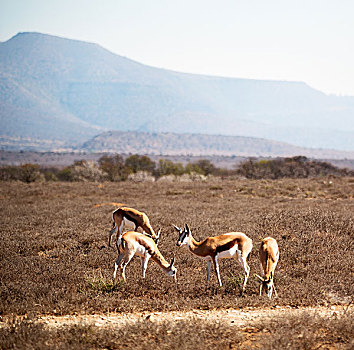
<path id="1" fill-rule="evenodd" d="M 276 317 L 238 328 L 202 319 L 124 327 L 75 325 L 45 328 L 31 319 L 13 319 L 0 329 L 2 349 L 352 349 L 353 313 L 321 317 L 306 313 Z"/>

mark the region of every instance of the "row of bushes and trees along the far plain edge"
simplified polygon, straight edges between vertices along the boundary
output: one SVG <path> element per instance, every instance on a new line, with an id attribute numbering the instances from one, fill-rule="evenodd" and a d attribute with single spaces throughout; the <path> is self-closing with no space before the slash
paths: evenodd
<path id="1" fill-rule="evenodd" d="M 309 160 L 303 156 L 257 160 L 249 158 L 234 169 L 216 167 L 207 159 L 183 165 L 168 159 L 154 162 L 146 155 L 104 155 L 95 161 L 79 160 L 63 169 L 41 167 L 38 164 L 0 167 L 0 181 L 126 181 L 132 174 L 144 172 L 155 179 L 167 175 L 243 177 L 247 179 L 308 178 L 320 176 L 354 176 L 348 169 L 340 169 L 328 162 Z"/>

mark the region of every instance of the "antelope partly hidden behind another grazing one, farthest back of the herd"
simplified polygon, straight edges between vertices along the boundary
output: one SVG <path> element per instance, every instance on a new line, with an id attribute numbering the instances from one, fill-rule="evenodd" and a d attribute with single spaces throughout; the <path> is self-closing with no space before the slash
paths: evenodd
<path id="1" fill-rule="evenodd" d="M 135 225 L 134 231 L 137 230 L 138 227 L 141 227 L 146 235 L 152 237 L 156 244 L 158 243 L 160 237 L 160 230 L 156 234 L 153 228 L 150 225 L 149 218 L 147 215 L 139 210 L 128 208 L 128 207 L 120 207 L 112 213 L 113 227 L 109 231 L 109 239 L 108 246 L 111 246 L 111 238 L 114 232 L 117 232 L 116 245 L 117 249 L 119 246 L 119 240 L 122 236 L 124 223 L 131 222 Z"/>

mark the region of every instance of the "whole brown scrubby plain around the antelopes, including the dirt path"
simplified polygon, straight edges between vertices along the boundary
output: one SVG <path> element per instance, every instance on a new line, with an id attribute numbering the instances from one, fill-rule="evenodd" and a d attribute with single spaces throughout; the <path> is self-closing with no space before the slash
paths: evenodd
<path id="1" fill-rule="evenodd" d="M 352 177 L 2 182 L 0 205 L 1 349 L 354 347 Z M 143 280 L 138 258 L 126 283 L 113 280 L 117 253 L 107 241 L 117 205 L 161 228 L 159 249 L 175 257 L 177 282 L 152 260 Z M 213 271 L 206 284 L 206 263 L 176 246 L 172 224 L 185 223 L 198 240 L 232 231 L 252 238 L 243 296 L 233 259 L 220 261 L 222 287 Z M 258 295 L 254 276 L 267 236 L 280 249 L 272 300 Z"/>

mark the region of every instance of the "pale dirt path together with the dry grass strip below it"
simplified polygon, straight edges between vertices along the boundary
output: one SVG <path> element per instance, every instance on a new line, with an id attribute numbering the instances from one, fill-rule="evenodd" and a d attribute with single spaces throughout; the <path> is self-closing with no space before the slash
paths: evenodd
<path id="1" fill-rule="evenodd" d="M 352 349 L 351 306 L 6 317 L 1 349 Z"/>

